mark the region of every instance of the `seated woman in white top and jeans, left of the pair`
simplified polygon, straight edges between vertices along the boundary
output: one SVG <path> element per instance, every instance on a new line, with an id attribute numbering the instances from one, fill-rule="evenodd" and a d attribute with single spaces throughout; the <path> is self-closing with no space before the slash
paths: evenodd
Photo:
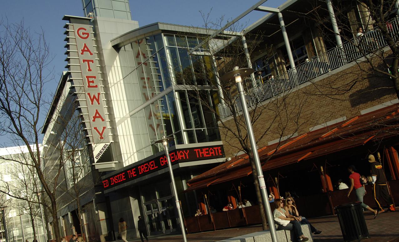
<path id="1" fill-rule="evenodd" d="M 273 218 L 279 224 L 277 230 L 282 230 L 284 227 L 290 226 L 292 227 L 292 231 L 294 232 L 296 238 L 300 239 L 301 242 L 308 241 L 309 238 L 306 238 L 303 235 L 302 228 L 300 227 L 299 218 L 290 215 L 286 212 L 282 207 L 284 203 L 281 202 L 281 199 L 275 199 L 275 210 L 273 211 Z"/>

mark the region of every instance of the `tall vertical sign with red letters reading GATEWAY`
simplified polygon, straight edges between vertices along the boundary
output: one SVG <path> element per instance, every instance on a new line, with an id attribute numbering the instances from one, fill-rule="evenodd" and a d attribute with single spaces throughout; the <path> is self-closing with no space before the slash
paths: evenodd
<path id="1" fill-rule="evenodd" d="M 93 26 L 90 18 L 64 16 L 63 20 L 69 21 L 65 25 L 69 81 L 97 162 L 112 142 L 112 134 Z"/>

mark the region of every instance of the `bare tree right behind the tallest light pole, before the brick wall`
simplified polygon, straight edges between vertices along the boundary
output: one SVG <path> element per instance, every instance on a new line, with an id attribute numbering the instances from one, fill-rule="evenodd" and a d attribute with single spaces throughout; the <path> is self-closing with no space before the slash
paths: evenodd
<path id="1" fill-rule="evenodd" d="M 214 29 L 220 29 L 224 25 L 223 18 L 212 22 L 208 20 L 208 16 L 203 15 L 205 28 L 192 29 L 199 42 L 211 35 Z M 188 35 L 187 33 L 181 34 Z M 172 76 L 178 84 L 190 86 L 189 89 L 192 91 L 187 91 L 187 97 L 196 100 L 198 103 L 196 109 L 201 109 L 203 116 L 207 117 L 203 121 L 206 126 L 212 126 L 214 122 L 220 131 L 221 140 L 229 146 L 230 150 L 235 150 L 236 154 L 245 153 L 247 155 L 245 159 L 251 165 L 263 228 L 267 229 L 258 173 L 237 88 L 234 80 L 224 83 L 219 81 L 221 76 L 233 70 L 234 66 L 247 67 L 248 55 L 253 56 L 265 52 L 271 54 L 271 46 L 265 45 L 262 33 L 244 35 L 248 49 L 244 48 L 242 35 L 242 26 L 232 25 L 227 31 L 201 47 L 201 53 L 197 52 L 191 55 L 192 66 L 183 66 L 183 64 L 178 66 L 178 63 L 186 62 L 186 60 L 182 60 L 182 55 L 180 55 L 180 62 L 172 60 L 172 63 L 175 64 L 171 66 L 171 69 L 173 70 Z M 306 125 L 307 119 L 301 116 L 302 107 L 306 103 L 306 96 L 301 96 L 298 92 L 287 91 L 277 98 L 262 102 L 259 95 L 264 95 L 265 90 L 251 90 L 254 83 L 260 84 L 262 81 L 255 75 L 244 80 L 247 100 L 251 103 L 251 124 L 253 127 L 262 127 L 261 130 L 255 128 L 257 144 L 265 146 L 265 137 L 277 139 L 278 145 L 275 151 L 278 151 L 285 140 L 294 137 L 298 130 Z M 281 83 L 281 85 L 284 85 L 284 83 Z M 279 87 L 276 86 L 276 88 Z M 182 94 L 180 94 L 180 100 L 182 103 L 186 102 L 186 98 Z M 212 117 L 214 120 L 212 120 Z M 199 118 L 201 119 L 201 117 Z M 210 130 L 205 129 L 206 137 L 210 135 L 207 133 Z M 269 156 L 267 160 L 271 157 Z"/>

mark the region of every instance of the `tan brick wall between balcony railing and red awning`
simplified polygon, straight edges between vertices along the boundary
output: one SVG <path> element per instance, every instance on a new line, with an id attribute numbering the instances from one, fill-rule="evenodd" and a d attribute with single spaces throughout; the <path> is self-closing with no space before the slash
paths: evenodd
<path id="1" fill-rule="evenodd" d="M 392 82 L 369 69 L 366 63 L 344 66 L 318 79 L 302 84 L 279 98 L 259 103 L 253 108 L 253 129 L 259 148 L 268 142 L 346 117 L 360 115 L 360 111 L 394 100 L 396 97 Z M 219 122 L 221 139 L 226 157 L 242 150 L 237 139 L 237 125 L 246 135 L 244 119 L 234 121 L 232 117 Z M 244 139 L 244 142 L 249 142 Z"/>

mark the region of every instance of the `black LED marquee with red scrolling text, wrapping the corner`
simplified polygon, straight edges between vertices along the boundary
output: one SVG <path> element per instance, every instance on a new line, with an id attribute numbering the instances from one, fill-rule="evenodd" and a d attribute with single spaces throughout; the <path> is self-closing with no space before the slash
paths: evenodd
<path id="1" fill-rule="evenodd" d="M 196 160 L 209 160 L 215 158 L 223 158 L 224 150 L 223 145 L 205 146 L 196 148 L 176 149 L 169 152 L 170 161 L 172 165 L 180 162 L 189 162 Z M 168 160 L 165 154 L 152 158 L 146 159 L 138 165 L 130 166 L 113 176 L 110 176 L 103 180 L 104 189 L 109 189 L 116 185 L 132 181 L 136 178 L 151 174 L 158 170 L 162 170 L 168 167 Z"/>

